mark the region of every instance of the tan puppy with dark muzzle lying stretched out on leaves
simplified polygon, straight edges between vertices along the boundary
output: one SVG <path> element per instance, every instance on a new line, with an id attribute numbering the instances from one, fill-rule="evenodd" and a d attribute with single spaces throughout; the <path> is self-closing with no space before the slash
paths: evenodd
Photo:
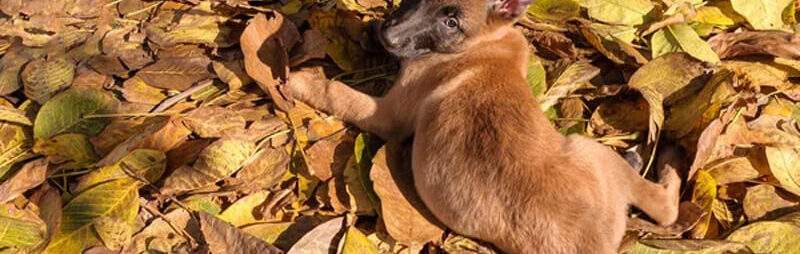
<path id="1" fill-rule="evenodd" d="M 390 142 L 413 135 L 416 189 L 458 233 L 507 253 L 616 253 L 629 205 L 676 220 L 680 180 L 648 182 L 609 148 L 554 130 L 512 28 L 529 1 L 405 0 L 380 32 L 403 59 L 386 96 L 311 72 L 291 75 L 288 92 Z"/>

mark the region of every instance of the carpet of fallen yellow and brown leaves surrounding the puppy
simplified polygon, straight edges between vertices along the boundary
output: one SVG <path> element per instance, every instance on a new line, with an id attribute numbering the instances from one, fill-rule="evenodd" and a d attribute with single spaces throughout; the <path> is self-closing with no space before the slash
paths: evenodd
<path id="1" fill-rule="evenodd" d="M 0 253 L 494 253 L 432 219 L 403 150 L 280 93 L 300 68 L 385 91 L 365 30 L 397 4 L 0 0 Z M 560 132 L 642 175 L 684 151 L 679 223 L 634 213 L 621 252 L 800 252 L 797 8 L 538 0 L 517 24 Z"/>

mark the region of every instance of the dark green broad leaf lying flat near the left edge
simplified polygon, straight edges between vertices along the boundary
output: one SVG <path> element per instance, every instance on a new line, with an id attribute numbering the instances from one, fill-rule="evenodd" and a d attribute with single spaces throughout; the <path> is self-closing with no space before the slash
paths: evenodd
<path id="1" fill-rule="evenodd" d="M 33 136 L 49 138 L 59 133 L 74 132 L 95 136 L 109 122 L 108 118 L 89 118 L 92 114 L 113 113 L 117 101 L 94 89 L 74 87 L 42 106 L 33 125 Z"/>

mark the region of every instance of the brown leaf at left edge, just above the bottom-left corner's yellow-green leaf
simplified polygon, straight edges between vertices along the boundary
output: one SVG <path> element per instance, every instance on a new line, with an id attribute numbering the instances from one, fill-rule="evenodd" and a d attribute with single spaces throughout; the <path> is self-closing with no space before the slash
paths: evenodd
<path id="1" fill-rule="evenodd" d="M 6 203 L 23 192 L 42 184 L 47 173 L 47 160 L 37 159 L 25 163 L 11 178 L 0 184 L 0 203 Z"/>

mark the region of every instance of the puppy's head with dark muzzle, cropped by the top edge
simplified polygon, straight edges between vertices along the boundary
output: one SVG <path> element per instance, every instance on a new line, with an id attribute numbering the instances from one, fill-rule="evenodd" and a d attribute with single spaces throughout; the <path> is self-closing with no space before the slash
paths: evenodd
<path id="1" fill-rule="evenodd" d="M 414 58 L 456 53 L 512 24 L 535 0 L 403 0 L 378 26 L 378 39 L 392 54 Z"/>

